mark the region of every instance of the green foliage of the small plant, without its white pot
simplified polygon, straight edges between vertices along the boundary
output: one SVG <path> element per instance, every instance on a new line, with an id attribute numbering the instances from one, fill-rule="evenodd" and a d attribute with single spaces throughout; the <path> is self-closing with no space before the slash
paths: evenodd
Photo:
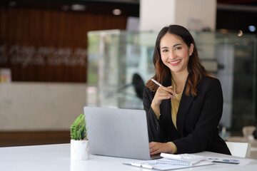
<path id="1" fill-rule="evenodd" d="M 71 125 L 71 139 L 87 140 L 87 129 L 85 115 L 81 114 Z"/>

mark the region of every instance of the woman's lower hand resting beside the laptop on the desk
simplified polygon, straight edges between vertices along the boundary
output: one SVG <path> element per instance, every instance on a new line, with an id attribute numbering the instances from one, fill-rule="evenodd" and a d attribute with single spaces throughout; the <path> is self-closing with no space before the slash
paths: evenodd
<path id="1" fill-rule="evenodd" d="M 169 143 L 150 142 L 149 149 L 151 155 L 156 155 L 161 152 L 172 152 L 173 146 Z"/>

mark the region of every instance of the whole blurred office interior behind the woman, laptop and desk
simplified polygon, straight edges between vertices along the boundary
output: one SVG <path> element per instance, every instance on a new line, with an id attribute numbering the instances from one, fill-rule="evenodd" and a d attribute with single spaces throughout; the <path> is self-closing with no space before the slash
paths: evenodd
<path id="1" fill-rule="evenodd" d="M 69 142 L 85 105 L 142 109 L 161 21 L 186 26 L 220 79 L 223 138 L 256 126 L 257 1 L 160 2 L 161 20 L 147 0 L 0 1 L 0 146 Z"/>

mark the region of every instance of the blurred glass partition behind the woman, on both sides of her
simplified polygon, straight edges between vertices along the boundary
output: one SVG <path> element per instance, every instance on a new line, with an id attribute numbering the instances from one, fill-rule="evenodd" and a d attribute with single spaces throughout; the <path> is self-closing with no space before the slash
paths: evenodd
<path id="1" fill-rule="evenodd" d="M 256 123 L 256 37 L 191 32 L 203 66 L 223 88 L 221 125 L 240 130 Z M 89 31 L 87 105 L 143 109 L 143 86 L 154 74 L 158 33 Z"/>

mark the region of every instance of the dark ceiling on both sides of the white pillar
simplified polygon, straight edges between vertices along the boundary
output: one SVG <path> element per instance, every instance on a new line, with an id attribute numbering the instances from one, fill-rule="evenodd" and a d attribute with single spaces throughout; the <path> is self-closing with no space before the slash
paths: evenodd
<path id="1" fill-rule="evenodd" d="M 79 12 L 113 15 L 114 9 L 121 9 L 121 15 L 138 17 L 139 2 L 140 0 L 1 0 L 0 6 L 71 11 L 72 4 L 81 4 L 86 6 L 86 10 Z M 257 27 L 257 0 L 217 0 L 216 14 L 216 29 L 250 33 L 248 26 Z"/>

